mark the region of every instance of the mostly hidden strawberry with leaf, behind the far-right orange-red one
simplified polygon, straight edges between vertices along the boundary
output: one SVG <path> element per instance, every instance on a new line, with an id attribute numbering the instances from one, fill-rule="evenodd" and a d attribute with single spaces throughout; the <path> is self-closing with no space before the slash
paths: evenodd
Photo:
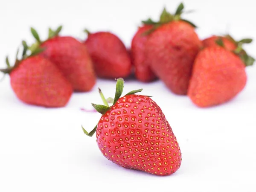
<path id="1" fill-rule="evenodd" d="M 245 38 L 245 39 L 241 39 L 240 41 L 236 41 L 230 35 L 224 35 L 224 36 L 212 35 L 211 37 L 204 39 L 202 42 L 204 47 L 221 46 L 229 51 L 234 51 L 237 47 L 239 47 L 240 44 L 251 43 L 252 39 Z"/>

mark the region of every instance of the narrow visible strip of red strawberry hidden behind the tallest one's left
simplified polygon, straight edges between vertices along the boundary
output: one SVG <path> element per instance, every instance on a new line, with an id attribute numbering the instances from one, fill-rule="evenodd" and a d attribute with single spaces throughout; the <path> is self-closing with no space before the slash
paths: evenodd
<path id="1" fill-rule="evenodd" d="M 145 43 L 148 35 L 144 33 L 152 29 L 152 25 L 139 27 L 131 41 L 131 55 L 135 66 L 135 76 L 139 81 L 148 82 L 156 79 L 150 67 L 145 63 Z"/>

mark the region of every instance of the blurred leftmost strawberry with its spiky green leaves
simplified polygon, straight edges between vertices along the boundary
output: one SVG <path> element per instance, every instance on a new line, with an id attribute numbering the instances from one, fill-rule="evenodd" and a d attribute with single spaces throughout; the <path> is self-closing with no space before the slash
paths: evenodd
<path id="1" fill-rule="evenodd" d="M 32 53 L 26 56 L 27 45 L 23 41 L 24 51 L 21 60 L 16 58 L 10 66 L 8 57 L 3 73 L 9 73 L 12 90 L 21 101 L 44 107 L 63 107 L 73 92 L 69 81 L 48 59 Z"/>

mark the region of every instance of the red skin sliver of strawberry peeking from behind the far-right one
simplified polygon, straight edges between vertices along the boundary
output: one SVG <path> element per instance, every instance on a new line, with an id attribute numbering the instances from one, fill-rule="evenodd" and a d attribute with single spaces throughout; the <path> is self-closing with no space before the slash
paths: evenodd
<path id="1" fill-rule="evenodd" d="M 222 40 L 224 47 L 229 51 L 233 51 L 237 47 L 234 42 L 230 41 L 230 39 L 221 37 L 221 36 L 216 36 L 216 35 L 212 35 L 211 37 L 204 39 L 202 41 L 203 46 L 204 47 L 219 47 L 219 45 L 216 43 L 216 41 L 218 39 Z"/>

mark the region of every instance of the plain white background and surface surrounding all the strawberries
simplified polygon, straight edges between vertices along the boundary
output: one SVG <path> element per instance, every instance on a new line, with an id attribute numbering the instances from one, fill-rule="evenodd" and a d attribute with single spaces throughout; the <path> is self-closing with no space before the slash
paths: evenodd
<path id="1" fill-rule="evenodd" d="M 246 46 L 256 57 L 255 2 L 252 0 L 186 0 L 184 15 L 198 25 L 198 35 L 230 33 L 236 39 L 254 38 Z M 157 19 L 163 6 L 174 11 L 177 0 L 1 0 L 0 67 L 5 56 L 14 61 L 22 39 L 32 42 L 29 27 L 41 38 L 47 28 L 63 24 L 62 35 L 78 39 L 92 32 L 111 30 L 129 47 L 140 20 Z M 247 67 L 248 81 L 232 101 L 213 108 L 195 107 L 186 96 L 172 94 L 162 82 L 125 82 L 125 92 L 144 88 L 153 95 L 172 126 L 183 161 L 171 176 L 160 177 L 119 167 L 108 161 L 87 137 L 100 118 L 86 113 L 91 102 L 101 103 L 97 87 L 113 96 L 115 81 L 98 80 L 90 93 L 75 93 L 65 108 L 26 105 L 13 93 L 9 77 L 0 82 L 0 191 L 173 191 L 255 192 L 256 173 L 256 66 Z"/>

